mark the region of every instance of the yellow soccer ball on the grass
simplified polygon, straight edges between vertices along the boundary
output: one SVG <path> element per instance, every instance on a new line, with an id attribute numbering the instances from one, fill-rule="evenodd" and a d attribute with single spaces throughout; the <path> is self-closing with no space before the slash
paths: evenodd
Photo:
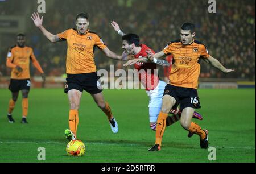
<path id="1" fill-rule="evenodd" d="M 82 156 L 85 152 L 85 145 L 81 140 L 71 140 L 66 147 L 68 156 Z"/>

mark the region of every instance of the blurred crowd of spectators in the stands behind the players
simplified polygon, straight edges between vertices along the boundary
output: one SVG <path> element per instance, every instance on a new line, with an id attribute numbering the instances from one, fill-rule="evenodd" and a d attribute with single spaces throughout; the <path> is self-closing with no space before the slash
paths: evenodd
<path id="1" fill-rule="evenodd" d="M 43 14 L 44 27 L 53 34 L 74 28 L 75 16 L 86 11 L 89 14 L 90 30 L 97 32 L 110 49 L 121 54 L 122 40 L 110 25 L 112 20 L 119 24 L 123 32 L 138 34 L 141 43 L 156 52 L 161 51 L 171 40 L 180 38 L 181 24 L 192 22 L 196 25 L 196 40 L 207 45 L 210 55 L 220 60 L 225 67 L 236 69 L 236 72 L 226 76 L 202 62 L 200 77 L 255 81 L 255 1 L 217 1 L 217 13 L 209 13 L 208 6 L 206 0 L 54 0 L 54 6 L 47 7 Z M 65 44 L 49 43 L 33 26 L 30 16 L 27 16 L 25 33 L 27 45 L 34 48 L 44 72 L 48 76 L 65 73 Z M 13 38 L 15 44 L 15 35 Z M 9 46 L 0 48 L 0 72 L 3 75 L 10 72 L 5 67 Z M 109 64 L 123 68 L 122 62 L 107 59 L 100 51 L 96 51 L 95 61 L 98 69 L 108 70 Z"/>

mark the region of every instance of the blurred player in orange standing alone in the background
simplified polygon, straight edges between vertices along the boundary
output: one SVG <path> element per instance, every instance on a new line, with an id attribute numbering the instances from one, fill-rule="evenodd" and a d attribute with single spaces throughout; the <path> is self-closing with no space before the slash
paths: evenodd
<path id="1" fill-rule="evenodd" d="M 36 69 L 41 73 L 43 81 L 46 80 L 44 72 L 36 60 L 33 49 L 27 47 L 26 36 L 18 34 L 16 38 L 16 45 L 9 49 L 6 66 L 11 68 L 11 81 L 9 90 L 12 98 L 9 101 L 8 119 L 10 123 L 14 123 L 12 113 L 15 103 L 18 100 L 19 90 L 22 91 L 22 123 L 27 122 L 28 113 L 28 93 L 30 92 L 30 60 Z"/>

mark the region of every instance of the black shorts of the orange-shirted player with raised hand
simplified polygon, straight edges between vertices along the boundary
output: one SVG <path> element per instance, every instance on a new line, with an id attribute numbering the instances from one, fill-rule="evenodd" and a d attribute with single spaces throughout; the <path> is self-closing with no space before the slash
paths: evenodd
<path id="1" fill-rule="evenodd" d="M 98 94 L 102 92 L 101 81 L 100 77 L 97 76 L 97 72 L 68 74 L 66 80 L 65 93 L 68 93 L 68 91 L 72 89 L 79 90 L 80 92 L 86 90 L 86 92 L 90 94 Z"/>

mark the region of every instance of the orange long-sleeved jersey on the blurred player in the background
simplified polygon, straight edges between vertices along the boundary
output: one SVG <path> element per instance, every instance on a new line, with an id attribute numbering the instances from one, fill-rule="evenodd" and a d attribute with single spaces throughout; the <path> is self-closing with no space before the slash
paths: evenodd
<path id="1" fill-rule="evenodd" d="M 34 55 L 33 49 L 31 47 L 18 47 L 14 46 L 9 49 L 7 55 L 7 66 L 12 68 L 11 79 L 28 79 L 30 78 L 30 60 L 35 65 L 36 69 L 40 73 L 44 73 L 40 67 L 36 57 Z M 18 65 L 22 68 L 22 72 L 18 72 L 15 67 Z"/>

